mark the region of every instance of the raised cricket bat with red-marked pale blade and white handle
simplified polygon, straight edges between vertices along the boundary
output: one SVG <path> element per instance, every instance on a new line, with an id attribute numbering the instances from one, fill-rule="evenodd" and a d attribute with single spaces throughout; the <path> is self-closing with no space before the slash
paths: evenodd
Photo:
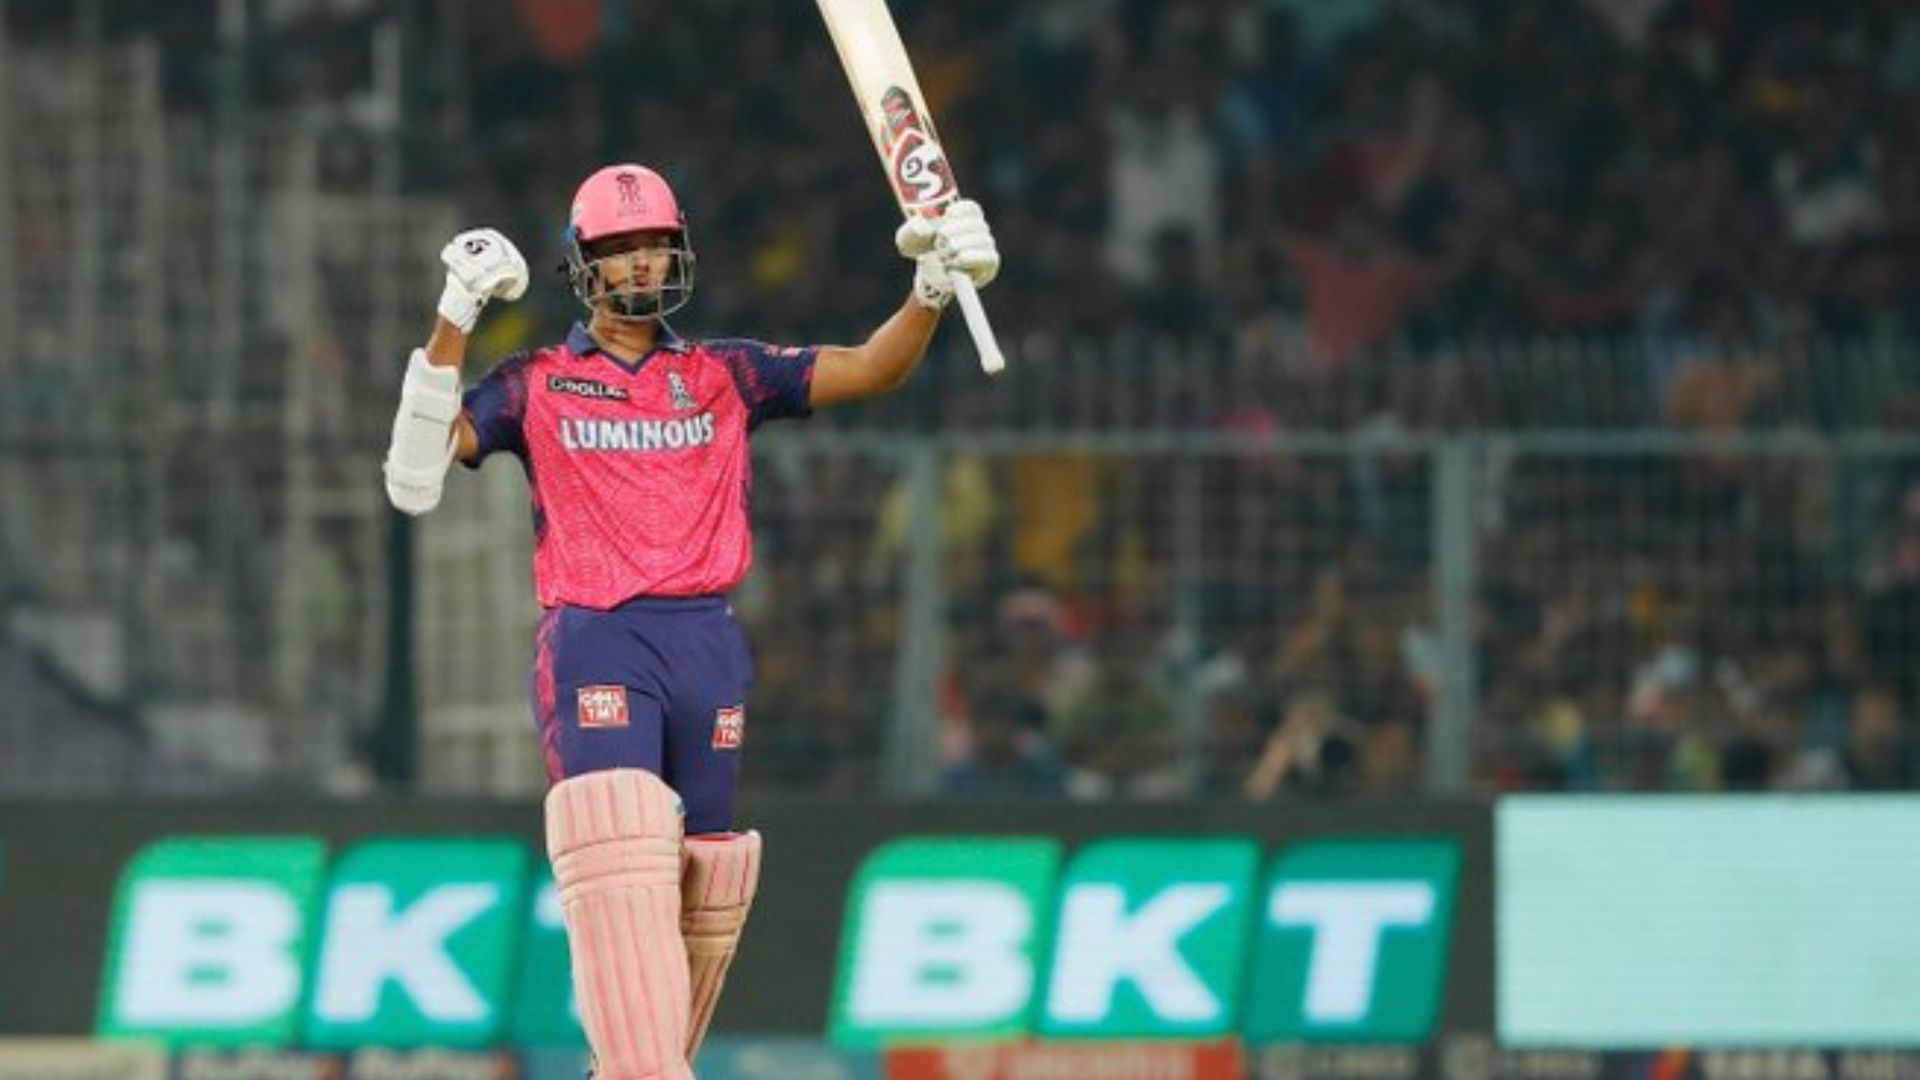
<path id="1" fill-rule="evenodd" d="M 900 213 L 908 217 L 947 213 L 947 204 L 960 198 L 960 184 L 954 183 L 941 136 L 933 133 L 933 117 L 920 94 L 906 46 L 900 44 L 900 31 L 887 12 L 887 0 L 818 0 L 818 4 Z M 973 334 L 979 365 L 987 375 L 996 375 L 1006 367 L 1006 357 L 993 340 L 987 309 L 981 307 L 979 292 L 966 275 L 954 275 L 954 300 L 960 302 L 966 329 Z"/>

